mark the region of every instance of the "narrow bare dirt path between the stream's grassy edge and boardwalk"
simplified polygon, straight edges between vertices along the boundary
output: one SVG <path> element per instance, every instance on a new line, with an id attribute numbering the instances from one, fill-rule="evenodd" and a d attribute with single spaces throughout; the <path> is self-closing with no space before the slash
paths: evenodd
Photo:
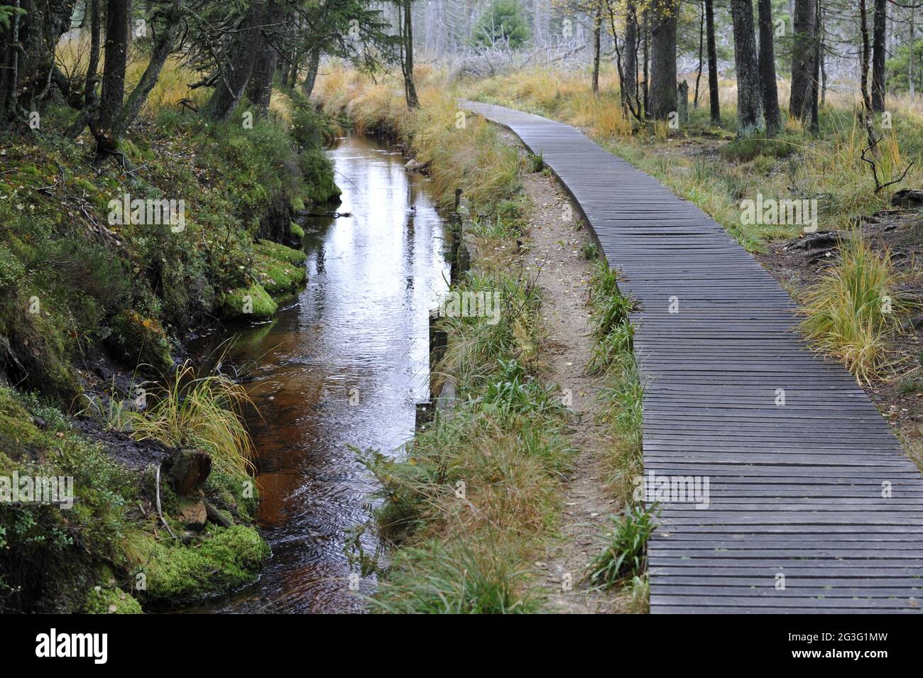
<path id="1" fill-rule="evenodd" d="M 513 143 L 512 137 L 509 141 Z M 548 380 L 569 389 L 574 412 L 570 442 L 578 450 L 565 483 L 561 538 L 535 567 L 544 576 L 542 588 L 549 612 L 619 612 L 615 593 L 590 590 L 581 583 L 586 565 L 600 551 L 598 535 L 611 526 L 608 517 L 620 509 L 605 486 L 602 470 L 607 441 L 605 425 L 596 419 L 603 379 L 584 374 L 593 347 L 587 303 L 593 262 L 582 256 L 581 247 L 591 243 L 592 236 L 585 228 L 578 230 L 576 209 L 571 220 L 563 219 L 569 197 L 555 179 L 542 173 L 526 174 L 522 184 L 533 203 L 527 266 L 531 272 L 541 267 L 538 284 L 544 291 L 543 316 L 552 346 Z M 567 574 L 572 578 L 571 590 L 562 587 Z"/>

